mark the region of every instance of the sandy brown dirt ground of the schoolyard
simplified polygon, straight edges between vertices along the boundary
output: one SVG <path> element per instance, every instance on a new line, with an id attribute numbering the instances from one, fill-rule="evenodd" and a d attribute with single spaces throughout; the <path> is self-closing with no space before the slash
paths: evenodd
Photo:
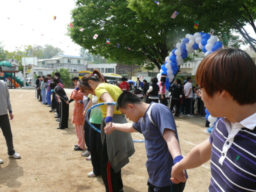
<path id="1" fill-rule="evenodd" d="M 65 89 L 70 95 L 71 89 Z M 54 113 L 34 98 L 32 89 L 9 89 L 14 119 L 10 121 L 13 143 L 21 158 L 8 158 L 5 139 L 0 130 L 0 191 L 105 191 L 101 176 L 89 178 L 91 161 L 74 151 L 76 134 L 71 123 L 73 103 L 69 106 L 69 125 L 56 129 Z M 182 155 L 209 134 L 203 132 L 205 118 L 175 117 Z M 133 139 L 143 139 L 132 133 Z M 122 168 L 126 192 L 147 191 L 146 154 L 143 142 L 134 142 L 135 153 Z M 187 170 L 184 191 L 207 191 L 210 178 L 209 162 Z"/>

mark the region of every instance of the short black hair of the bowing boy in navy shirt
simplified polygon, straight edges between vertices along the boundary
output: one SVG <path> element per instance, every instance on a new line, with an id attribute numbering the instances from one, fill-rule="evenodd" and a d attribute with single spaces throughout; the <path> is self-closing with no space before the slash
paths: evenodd
<path id="1" fill-rule="evenodd" d="M 119 110 L 119 108 L 126 108 L 127 105 L 130 104 L 139 104 L 143 101 L 132 92 L 125 91 L 119 95 L 116 101 L 116 110 Z"/>

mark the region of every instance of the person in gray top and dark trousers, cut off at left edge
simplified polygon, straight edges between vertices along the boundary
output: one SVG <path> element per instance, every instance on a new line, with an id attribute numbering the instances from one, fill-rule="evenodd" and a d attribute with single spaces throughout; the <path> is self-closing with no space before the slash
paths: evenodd
<path id="1" fill-rule="evenodd" d="M 0 72 L 1 71 L 2 71 L 2 68 L 0 66 Z M 12 120 L 13 114 L 12 114 L 11 104 L 10 104 L 9 90 L 6 82 L 0 80 L 0 128 L 2 130 L 2 134 L 6 141 L 8 156 L 13 158 L 19 158 L 20 154 L 15 152 L 13 148 L 12 133 L 10 129 L 8 111 L 9 111 L 10 120 Z M 0 159 L 0 163 L 2 162 L 3 160 Z"/>

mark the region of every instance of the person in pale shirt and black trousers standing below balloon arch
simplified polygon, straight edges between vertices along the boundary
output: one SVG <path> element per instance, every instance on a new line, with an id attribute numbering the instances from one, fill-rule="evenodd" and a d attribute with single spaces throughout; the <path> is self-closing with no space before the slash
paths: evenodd
<path id="1" fill-rule="evenodd" d="M 184 85 L 185 94 L 185 116 L 194 116 L 192 114 L 192 101 L 193 101 L 193 91 L 192 91 L 192 78 L 191 76 L 186 77 L 187 83 Z"/>

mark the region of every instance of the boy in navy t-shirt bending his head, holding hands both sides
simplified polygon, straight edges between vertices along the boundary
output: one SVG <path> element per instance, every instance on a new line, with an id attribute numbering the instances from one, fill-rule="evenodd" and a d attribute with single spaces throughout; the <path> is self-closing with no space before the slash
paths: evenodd
<path id="1" fill-rule="evenodd" d="M 148 192 L 183 191 L 184 182 L 170 181 L 171 167 L 182 159 L 175 121 L 168 107 L 161 103 L 144 103 L 131 92 L 123 92 L 117 99 L 116 109 L 134 123 L 112 123 L 105 128 L 109 134 L 114 129 L 140 132 L 145 137 Z M 173 160 L 174 159 L 174 160 Z M 185 179 L 185 172 L 180 172 Z"/>

